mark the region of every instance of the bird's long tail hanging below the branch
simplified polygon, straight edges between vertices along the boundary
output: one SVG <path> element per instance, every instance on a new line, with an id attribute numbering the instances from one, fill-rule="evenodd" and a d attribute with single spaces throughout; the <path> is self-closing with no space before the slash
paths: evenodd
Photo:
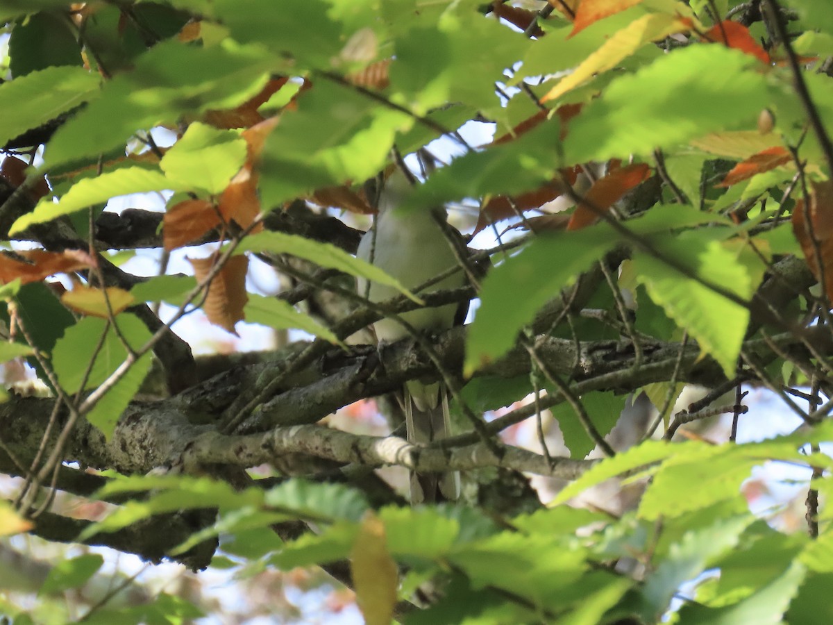
<path id="1" fill-rule="evenodd" d="M 433 401 L 426 401 L 425 398 Z M 405 387 L 405 424 L 411 443 L 431 443 L 451 436 L 448 393 L 444 383 L 408 383 Z M 432 405 L 433 404 L 433 405 Z M 411 505 L 456 501 L 460 497 L 460 473 L 411 473 Z"/>

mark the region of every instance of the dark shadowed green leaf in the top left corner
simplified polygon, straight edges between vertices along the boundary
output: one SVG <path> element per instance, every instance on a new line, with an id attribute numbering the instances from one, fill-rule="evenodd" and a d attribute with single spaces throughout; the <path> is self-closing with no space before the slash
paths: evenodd
<path id="1" fill-rule="evenodd" d="M 75 32 L 58 13 L 37 13 L 15 24 L 8 38 L 8 56 L 16 78 L 52 66 L 83 65 Z"/>

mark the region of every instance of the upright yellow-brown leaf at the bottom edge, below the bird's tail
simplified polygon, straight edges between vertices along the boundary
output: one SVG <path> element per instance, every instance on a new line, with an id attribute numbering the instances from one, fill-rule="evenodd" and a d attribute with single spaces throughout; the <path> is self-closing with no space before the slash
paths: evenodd
<path id="1" fill-rule="evenodd" d="M 397 602 L 399 572 L 387 552 L 385 525 L 373 512 L 367 512 L 356 542 L 353 543 L 350 569 L 356 600 L 367 625 L 387 625 Z"/>

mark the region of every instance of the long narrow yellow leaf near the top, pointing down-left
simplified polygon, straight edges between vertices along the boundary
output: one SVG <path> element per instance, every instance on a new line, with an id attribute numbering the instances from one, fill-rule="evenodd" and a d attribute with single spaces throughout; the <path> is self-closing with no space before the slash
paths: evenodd
<path id="1" fill-rule="evenodd" d="M 666 13 L 651 13 L 631 22 L 626 28 L 616 32 L 596 52 L 581 62 L 575 71 L 564 77 L 555 87 L 552 87 L 541 102 L 554 100 L 566 92 L 584 84 L 599 72 L 606 72 L 623 58 L 631 56 L 636 50 L 648 42 L 668 37 L 675 32 L 685 32 L 690 23 L 676 15 Z"/>

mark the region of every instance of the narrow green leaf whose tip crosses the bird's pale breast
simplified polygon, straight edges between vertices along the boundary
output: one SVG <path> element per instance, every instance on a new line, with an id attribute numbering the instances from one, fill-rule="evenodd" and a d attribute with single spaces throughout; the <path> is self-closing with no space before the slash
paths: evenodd
<path id="1" fill-rule="evenodd" d="M 341 248 L 329 243 L 319 243 L 294 234 L 260 233 L 243 239 L 235 253 L 243 252 L 292 254 L 322 267 L 337 269 L 357 278 L 365 278 L 396 288 L 397 291 L 411 298 L 414 302 L 421 303 L 419 298 L 416 298 L 397 279 L 391 278 L 382 269 L 374 267 L 361 258 L 355 258 Z"/>

